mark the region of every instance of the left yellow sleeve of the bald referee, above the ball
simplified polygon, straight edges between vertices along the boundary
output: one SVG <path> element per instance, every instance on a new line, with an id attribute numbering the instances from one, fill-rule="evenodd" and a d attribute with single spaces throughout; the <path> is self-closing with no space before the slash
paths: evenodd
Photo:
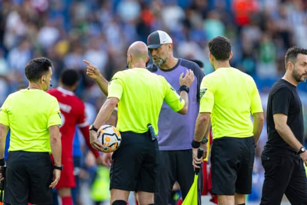
<path id="1" fill-rule="evenodd" d="M 109 81 L 109 85 L 107 88 L 107 98 L 116 97 L 120 99 L 123 94 L 123 78 L 117 72 L 112 79 Z"/>

